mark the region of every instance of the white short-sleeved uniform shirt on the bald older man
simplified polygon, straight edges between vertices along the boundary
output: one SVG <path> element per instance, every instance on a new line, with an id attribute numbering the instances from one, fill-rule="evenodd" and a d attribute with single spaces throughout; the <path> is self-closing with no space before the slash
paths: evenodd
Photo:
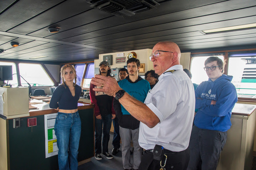
<path id="1" fill-rule="evenodd" d="M 189 146 L 195 112 L 194 86 L 182 65 L 168 70 L 176 71 L 161 74 L 144 102 L 160 119 L 153 128 L 140 122 L 139 143 L 146 150 L 153 149 L 156 144 L 173 152 Z"/>

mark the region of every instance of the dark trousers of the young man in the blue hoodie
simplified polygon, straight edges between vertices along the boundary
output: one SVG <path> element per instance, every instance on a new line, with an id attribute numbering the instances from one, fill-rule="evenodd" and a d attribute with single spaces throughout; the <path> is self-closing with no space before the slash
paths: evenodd
<path id="1" fill-rule="evenodd" d="M 192 128 L 189 149 L 190 160 L 188 170 L 216 170 L 224 145 L 227 132 Z"/>

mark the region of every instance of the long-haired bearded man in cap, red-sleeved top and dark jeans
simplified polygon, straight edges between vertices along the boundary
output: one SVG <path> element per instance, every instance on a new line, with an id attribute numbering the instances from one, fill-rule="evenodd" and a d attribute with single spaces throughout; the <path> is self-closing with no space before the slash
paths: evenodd
<path id="1" fill-rule="evenodd" d="M 110 76 L 111 70 L 107 61 L 102 61 L 99 64 L 99 73 L 102 76 Z M 104 92 L 94 92 L 93 88 L 102 88 L 90 84 L 90 98 L 91 103 L 95 105 L 95 159 L 101 160 L 101 153 L 108 159 L 113 156 L 108 152 L 109 132 L 111 129 L 112 119 L 115 119 L 116 114 L 113 108 L 113 97 L 108 96 Z M 103 132 L 102 150 L 101 150 L 101 136 Z M 101 152 L 102 151 L 102 152 Z"/>

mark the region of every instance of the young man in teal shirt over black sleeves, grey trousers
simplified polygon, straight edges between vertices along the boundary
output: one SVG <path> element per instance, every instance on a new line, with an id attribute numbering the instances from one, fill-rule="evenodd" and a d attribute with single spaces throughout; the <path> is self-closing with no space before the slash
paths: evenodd
<path id="1" fill-rule="evenodd" d="M 129 75 L 118 82 L 119 86 L 128 92 L 138 101 L 144 102 L 150 85 L 148 81 L 138 76 L 140 69 L 140 60 L 136 58 L 130 58 L 127 60 L 127 69 Z M 115 99 L 114 108 L 118 116 L 118 123 L 120 126 L 120 136 L 122 139 L 122 160 L 123 168 L 126 169 L 138 169 L 141 161 L 141 147 L 139 145 L 139 127 L 140 121 L 135 119 L 131 114 Z M 141 112 L 143 114 L 143 112 Z M 130 144 L 131 139 L 133 141 L 133 165 L 131 164 L 130 156 Z"/>

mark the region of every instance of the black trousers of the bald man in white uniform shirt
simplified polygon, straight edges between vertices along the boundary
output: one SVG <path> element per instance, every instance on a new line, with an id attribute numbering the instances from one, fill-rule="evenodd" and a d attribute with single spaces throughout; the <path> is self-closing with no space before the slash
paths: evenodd
<path id="1" fill-rule="evenodd" d="M 167 150 L 164 152 L 167 155 L 165 165 L 166 170 L 186 170 L 189 163 L 189 149 L 181 152 L 172 152 Z M 165 156 L 163 156 L 162 165 L 165 163 Z M 146 150 L 141 158 L 139 170 L 159 170 L 161 168 L 160 161 L 153 159 L 153 152 Z"/>

